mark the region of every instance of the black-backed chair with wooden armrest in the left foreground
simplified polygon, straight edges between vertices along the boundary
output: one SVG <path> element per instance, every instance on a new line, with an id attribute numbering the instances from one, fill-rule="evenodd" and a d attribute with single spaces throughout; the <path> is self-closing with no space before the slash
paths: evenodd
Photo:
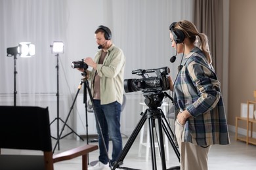
<path id="1" fill-rule="evenodd" d="M 53 170 L 53 163 L 82 156 L 87 169 L 87 155 L 98 146 L 86 144 L 53 155 L 48 108 L 0 106 L 0 169 Z M 41 150 L 41 155 L 1 154 L 1 148 Z"/>

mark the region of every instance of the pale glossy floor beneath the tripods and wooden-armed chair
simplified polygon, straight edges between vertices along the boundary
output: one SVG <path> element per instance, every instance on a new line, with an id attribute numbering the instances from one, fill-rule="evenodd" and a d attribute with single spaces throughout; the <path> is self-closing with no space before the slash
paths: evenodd
<path id="1" fill-rule="evenodd" d="M 226 146 L 214 145 L 211 147 L 209 152 L 209 170 L 236 170 L 236 169 L 255 169 L 256 167 L 256 146 L 246 145 L 244 142 L 235 141 L 234 133 L 230 133 L 231 144 Z M 128 138 L 123 137 L 123 145 L 127 143 Z M 66 137 L 60 140 L 60 150 L 58 147 L 54 150 L 54 153 L 62 152 L 68 150 L 69 148 L 74 148 L 75 146 L 80 146 L 87 143 L 85 141 L 77 141 L 76 138 Z M 91 139 L 89 139 L 91 143 Z M 53 148 L 56 144 L 56 140 L 53 139 Z M 97 143 L 91 143 L 97 144 Z M 112 143 L 110 142 L 110 150 Z M 139 137 L 131 145 L 131 148 L 128 150 L 127 155 L 123 159 L 123 165 L 120 167 L 129 167 L 133 169 L 152 169 L 151 157 L 148 160 L 145 158 L 146 148 L 142 148 L 142 153 L 139 157 Z M 3 154 L 17 152 L 16 150 L 2 150 Z M 158 149 L 156 149 L 156 152 Z M 28 151 L 18 151 L 19 153 L 28 152 Z M 32 153 L 32 152 L 30 152 Z M 89 162 L 93 162 L 98 158 L 98 150 L 91 152 L 89 154 Z M 158 152 L 156 153 L 156 164 L 158 169 L 161 168 L 161 159 Z M 169 160 L 166 160 L 166 167 L 175 167 L 179 165 L 178 158 L 171 146 L 169 144 Z M 81 158 L 75 158 L 74 160 L 62 161 L 54 163 L 54 169 L 59 170 L 78 170 L 81 169 Z"/>

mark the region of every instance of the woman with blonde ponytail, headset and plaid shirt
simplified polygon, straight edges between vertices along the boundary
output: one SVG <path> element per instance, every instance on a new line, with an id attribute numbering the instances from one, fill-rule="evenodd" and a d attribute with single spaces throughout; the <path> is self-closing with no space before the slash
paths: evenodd
<path id="1" fill-rule="evenodd" d="M 230 143 L 221 83 L 211 65 L 207 36 L 187 20 L 174 22 L 169 29 L 172 46 L 185 55 L 175 82 L 169 77 L 181 169 L 207 170 L 211 145 Z"/>

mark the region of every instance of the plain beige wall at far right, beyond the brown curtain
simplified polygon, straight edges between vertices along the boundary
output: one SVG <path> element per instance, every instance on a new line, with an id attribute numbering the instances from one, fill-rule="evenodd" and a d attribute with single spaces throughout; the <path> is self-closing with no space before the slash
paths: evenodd
<path id="1" fill-rule="evenodd" d="M 230 1 L 228 124 L 233 127 L 236 116 L 240 116 L 240 103 L 254 100 L 256 90 L 255 7 L 254 0 Z M 246 128 L 245 124 L 241 127 Z"/>

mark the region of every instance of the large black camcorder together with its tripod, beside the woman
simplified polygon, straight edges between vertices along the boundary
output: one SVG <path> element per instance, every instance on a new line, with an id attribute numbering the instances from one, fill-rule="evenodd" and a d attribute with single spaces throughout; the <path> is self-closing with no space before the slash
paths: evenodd
<path id="1" fill-rule="evenodd" d="M 148 76 L 147 73 L 156 73 L 156 76 Z M 164 143 L 163 143 L 163 132 L 169 139 L 169 142 L 171 143 L 171 146 L 173 146 L 173 149 L 175 151 L 175 154 L 177 158 L 180 161 L 180 153 L 179 149 L 175 146 L 175 142 L 173 140 L 174 133 L 169 126 L 169 122 L 167 122 L 167 119 L 165 118 L 165 114 L 161 110 L 161 104 L 163 103 L 163 97 L 169 97 L 171 101 L 173 102 L 173 99 L 170 95 L 168 95 L 166 90 L 169 90 L 169 78 L 167 75 L 169 75 L 170 69 L 169 67 L 161 67 L 159 69 L 137 69 L 135 71 L 132 71 L 132 74 L 137 74 L 142 76 L 140 79 L 125 79 L 124 80 L 124 89 L 126 93 L 129 92 L 137 92 L 141 90 L 143 92 L 143 96 L 145 97 L 144 102 L 148 106 L 148 109 L 146 109 L 144 112 L 141 112 L 140 115 L 142 116 L 140 118 L 139 123 L 133 130 L 133 133 L 131 133 L 131 137 L 129 137 L 127 143 L 125 144 L 123 151 L 121 152 L 118 160 L 116 160 L 116 163 L 113 166 L 113 170 L 118 168 L 121 163 L 123 163 L 123 159 L 127 155 L 127 152 L 131 148 L 131 145 L 137 138 L 137 135 L 139 134 L 140 129 L 142 129 L 142 126 L 144 126 L 144 123 L 146 122 L 146 119 L 149 120 L 148 128 L 150 133 L 150 148 L 151 148 L 151 154 L 152 154 L 152 167 L 153 169 L 156 169 L 156 150 L 155 150 L 155 142 L 154 142 L 154 127 L 156 127 L 155 120 L 158 120 L 158 132 L 156 136 L 159 137 L 158 139 L 158 146 L 160 148 L 160 156 L 161 156 L 161 166 L 162 169 L 166 169 L 166 163 L 165 163 L 165 149 L 164 149 Z M 167 144 L 167 143 L 165 143 Z M 121 169 L 129 169 L 127 167 L 122 167 Z M 170 169 L 180 169 L 180 167 L 171 167 Z"/>

